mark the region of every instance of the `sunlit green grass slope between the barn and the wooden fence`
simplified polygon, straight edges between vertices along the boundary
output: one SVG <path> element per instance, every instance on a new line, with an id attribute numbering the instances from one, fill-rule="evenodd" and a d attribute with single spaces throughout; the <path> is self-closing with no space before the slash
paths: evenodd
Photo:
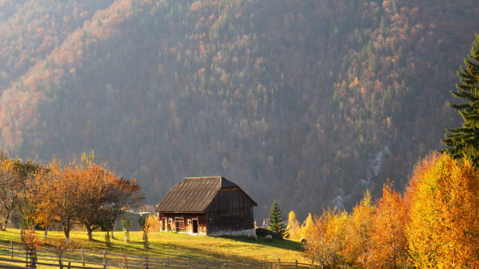
<path id="1" fill-rule="evenodd" d="M 43 231 L 37 231 L 39 238 L 43 238 Z M 85 251 L 123 254 L 130 256 L 171 257 L 185 258 L 189 255 L 194 259 L 228 259 L 242 261 L 274 261 L 280 258 L 285 262 L 310 263 L 303 255 L 302 244 L 293 240 L 273 239 L 266 242 L 263 238 L 258 241 L 247 239 L 246 236 L 205 237 L 175 233 L 149 233 L 149 249 L 143 248 L 142 233 L 130 232 L 130 243 L 124 242 L 124 232 L 114 233 L 117 239 L 111 239 L 111 247 L 105 246 L 105 233 L 94 232 L 93 240 L 88 240 L 86 232 L 71 232 L 70 238 L 74 249 L 84 248 Z M 7 229 L 0 232 L 0 242 L 21 244 L 20 230 Z M 56 242 L 64 241 L 63 232 L 51 231 L 43 242 L 44 247 L 50 247 Z"/>

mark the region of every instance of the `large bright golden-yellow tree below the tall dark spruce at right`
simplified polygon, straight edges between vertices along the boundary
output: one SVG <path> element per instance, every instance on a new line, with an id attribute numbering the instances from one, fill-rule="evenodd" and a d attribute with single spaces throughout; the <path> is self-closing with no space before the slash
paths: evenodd
<path id="1" fill-rule="evenodd" d="M 479 268 L 479 175 L 471 162 L 431 154 L 414 170 L 406 229 L 418 268 Z"/>

